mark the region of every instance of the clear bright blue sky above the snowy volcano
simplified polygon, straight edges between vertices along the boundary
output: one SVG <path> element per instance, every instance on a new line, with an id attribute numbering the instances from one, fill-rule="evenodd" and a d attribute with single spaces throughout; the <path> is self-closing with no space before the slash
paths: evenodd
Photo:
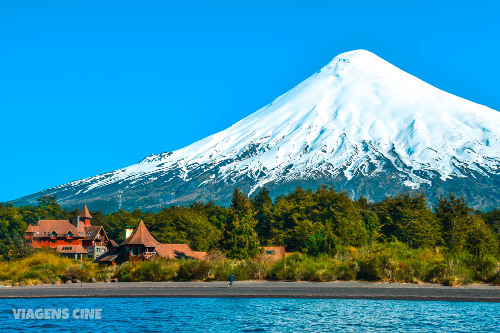
<path id="1" fill-rule="evenodd" d="M 500 110 L 497 1 L 2 1 L 0 201 L 172 151 L 367 49 Z"/>

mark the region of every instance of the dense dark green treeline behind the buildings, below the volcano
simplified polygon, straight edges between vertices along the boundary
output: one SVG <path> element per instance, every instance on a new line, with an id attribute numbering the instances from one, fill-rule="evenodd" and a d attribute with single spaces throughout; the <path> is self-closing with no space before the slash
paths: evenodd
<path id="1" fill-rule="evenodd" d="M 69 219 L 78 213 L 62 209 L 53 196 L 38 199 L 38 206 L 0 204 L 0 255 L 6 258 L 9 249 L 16 249 L 11 257 L 29 253 L 22 241 L 28 224 Z M 92 224 L 103 225 L 110 239 L 122 240 L 125 226 L 143 220 L 159 242 L 187 243 L 197 251 L 220 249 L 235 259 L 250 259 L 265 245 L 334 256 L 345 247 L 369 253 L 377 244 L 394 241 L 412 249 L 438 248 L 447 254 L 500 255 L 500 211 L 473 210 L 453 194 L 430 206 L 423 193 L 369 203 L 327 187 L 296 188 L 273 201 L 265 188 L 251 199 L 236 189 L 229 208 L 196 202 L 156 213 L 135 209 L 91 214 Z"/>

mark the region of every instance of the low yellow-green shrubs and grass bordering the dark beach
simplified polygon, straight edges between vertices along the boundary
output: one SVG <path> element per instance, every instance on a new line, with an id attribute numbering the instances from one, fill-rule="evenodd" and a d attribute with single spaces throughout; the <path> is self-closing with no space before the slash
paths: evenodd
<path id="1" fill-rule="evenodd" d="M 293 254 L 278 261 L 256 257 L 239 261 L 213 252 L 206 260 L 169 260 L 127 263 L 116 268 L 98 268 L 89 261 L 75 261 L 54 253 L 35 253 L 19 261 L 0 263 L 4 285 L 57 284 L 67 279 L 98 281 L 118 278 L 139 281 L 227 281 L 269 279 L 281 281 L 363 280 L 405 283 L 440 283 L 448 286 L 472 282 L 500 284 L 500 262 L 496 257 L 477 257 L 467 252 L 447 254 L 441 248 L 412 249 L 399 242 L 366 248 L 337 247 L 333 256 Z"/>

